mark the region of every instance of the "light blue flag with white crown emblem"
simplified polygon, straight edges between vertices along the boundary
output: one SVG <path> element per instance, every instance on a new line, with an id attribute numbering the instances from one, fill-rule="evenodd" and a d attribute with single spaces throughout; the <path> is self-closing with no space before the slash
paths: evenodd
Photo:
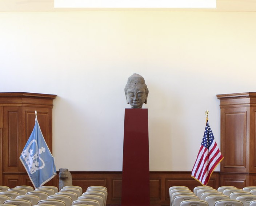
<path id="1" fill-rule="evenodd" d="M 20 161 L 35 188 L 44 185 L 56 175 L 55 160 L 44 140 L 37 118 L 35 127 L 20 155 Z"/>

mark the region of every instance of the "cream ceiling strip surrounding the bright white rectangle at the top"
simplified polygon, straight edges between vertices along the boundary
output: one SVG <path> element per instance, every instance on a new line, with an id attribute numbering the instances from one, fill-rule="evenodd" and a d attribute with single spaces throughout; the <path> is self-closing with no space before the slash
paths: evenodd
<path id="1" fill-rule="evenodd" d="M 54 0 L 0 0 L 0 12 L 45 12 L 45 11 L 95 11 L 95 10 L 164 10 L 164 11 L 243 11 L 256 12 L 256 0 L 217 0 L 217 9 L 109 9 L 109 8 L 65 8 L 55 9 Z"/>

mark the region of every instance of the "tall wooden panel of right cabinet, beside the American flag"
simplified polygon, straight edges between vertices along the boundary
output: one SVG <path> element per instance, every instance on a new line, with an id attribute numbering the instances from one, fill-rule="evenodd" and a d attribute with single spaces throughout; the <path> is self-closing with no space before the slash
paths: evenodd
<path id="1" fill-rule="evenodd" d="M 225 109 L 221 121 L 222 172 L 248 172 L 247 155 L 247 110 Z"/>

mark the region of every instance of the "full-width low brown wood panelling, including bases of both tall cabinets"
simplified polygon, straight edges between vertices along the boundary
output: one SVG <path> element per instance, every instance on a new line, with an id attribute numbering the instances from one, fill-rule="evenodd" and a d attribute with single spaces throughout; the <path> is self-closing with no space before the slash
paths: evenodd
<path id="1" fill-rule="evenodd" d="M 120 205 L 122 194 L 122 172 L 83 172 L 71 171 L 73 185 L 81 186 L 83 192 L 92 185 L 105 186 L 108 189 L 107 205 Z M 193 190 L 201 184 L 191 177 L 191 172 L 150 172 L 150 203 L 157 206 L 169 206 L 168 190 L 171 186 L 183 185 Z M 3 173 L 3 185 L 14 188 L 18 185 L 33 186 L 27 173 Z M 45 185 L 59 185 L 59 172 Z M 213 172 L 208 186 L 232 185 L 237 188 L 256 186 L 256 174 Z"/>

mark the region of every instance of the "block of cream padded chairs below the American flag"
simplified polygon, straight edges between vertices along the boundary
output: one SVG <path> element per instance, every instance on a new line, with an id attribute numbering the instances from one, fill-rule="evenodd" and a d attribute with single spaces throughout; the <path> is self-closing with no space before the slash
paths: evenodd
<path id="1" fill-rule="evenodd" d="M 217 190 L 210 186 L 198 186 L 193 189 L 193 192 L 186 186 L 173 186 L 169 188 L 170 206 L 181 206 L 181 202 L 188 200 L 199 201 L 198 205 L 200 206 L 206 203 L 209 206 L 224 206 L 225 204 L 235 206 L 235 203 L 238 206 L 241 203 L 243 206 L 249 206 L 250 204 L 250 206 L 256 206 L 255 192 L 255 186 L 243 189 L 234 186 L 221 186 Z M 217 202 L 219 203 L 217 204 Z M 186 204 L 189 204 L 189 202 Z M 194 205 L 195 202 L 191 202 L 191 204 Z"/>

